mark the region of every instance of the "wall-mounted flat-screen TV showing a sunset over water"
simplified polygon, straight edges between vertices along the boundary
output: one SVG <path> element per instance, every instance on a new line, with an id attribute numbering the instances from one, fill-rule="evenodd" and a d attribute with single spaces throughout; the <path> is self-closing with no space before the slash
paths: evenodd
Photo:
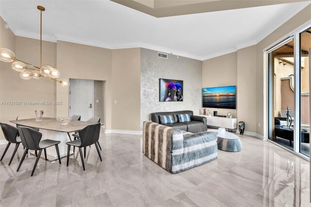
<path id="1" fill-rule="evenodd" d="M 236 109 L 236 86 L 207 87 L 202 89 L 204 108 Z"/>

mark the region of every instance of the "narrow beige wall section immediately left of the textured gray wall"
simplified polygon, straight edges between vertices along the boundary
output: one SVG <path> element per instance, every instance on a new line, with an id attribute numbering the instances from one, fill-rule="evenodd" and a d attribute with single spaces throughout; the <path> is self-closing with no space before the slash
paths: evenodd
<path id="1" fill-rule="evenodd" d="M 112 51 L 112 114 L 113 130 L 140 130 L 140 48 Z"/>

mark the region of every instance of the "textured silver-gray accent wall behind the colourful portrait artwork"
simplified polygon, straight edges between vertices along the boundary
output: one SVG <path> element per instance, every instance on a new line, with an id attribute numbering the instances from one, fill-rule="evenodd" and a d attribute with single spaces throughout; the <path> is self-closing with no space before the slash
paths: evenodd
<path id="1" fill-rule="evenodd" d="M 199 114 L 202 107 L 202 61 L 169 54 L 157 57 L 157 51 L 141 49 L 140 129 L 150 114 L 159 111 L 192 110 Z M 184 81 L 183 102 L 159 102 L 159 79 Z"/>

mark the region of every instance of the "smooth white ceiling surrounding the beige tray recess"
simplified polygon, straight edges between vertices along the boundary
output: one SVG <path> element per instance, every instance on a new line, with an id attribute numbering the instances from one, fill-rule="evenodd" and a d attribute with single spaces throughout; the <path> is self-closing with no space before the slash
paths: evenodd
<path id="1" fill-rule="evenodd" d="M 0 15 L 16 35 L 39 38 L 36 6 L 42 5 L 45 40 L 142 47 L 205 60 L 257 44 L 310 3 L 156 18 L 109 0 L 1 0 Z"/>

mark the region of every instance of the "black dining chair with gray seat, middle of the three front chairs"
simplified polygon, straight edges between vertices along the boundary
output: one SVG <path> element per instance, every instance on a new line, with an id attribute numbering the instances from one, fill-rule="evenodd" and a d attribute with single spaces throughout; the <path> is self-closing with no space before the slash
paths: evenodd
<path id="1" fill-rule="evenodd" d="M 52 147 L 54 145 L 56 148 L 56 153 L 57 153 L 59 164 L 61 164 L 59 150 L 58 150 L 58 144 L 60 143 L 60 141 L 56 141 L 56 140 L 52 140 L 52 139 L 44 139 L 41 141 L 42 134 L 40 132 L 32 129 L 32 128 L 29 128 L 29 127 L 19 126 L 18 132 L 20 135 L 21 143 L 23 144 L 23 146 L 26 149 L 25 149 L 24 154 L 23 154 L 23 156 L 19 162 L 17 172 L 19 171 L 19 168 L 20 168 L 21 164 L 23 163 L 26 154 L 28 153 L 28 150 L 39 150 L 37 158 L 35 159 L 35 166 L 34 166 L 33 172 L 31 173 L 31 176 L 33 176 L 35 173 L 35 168 L 36 168 L 38 161 L 40 159 L 40 155 L 42 153 L 42 150 L 44 150 L 45 160 L 47 160 L 46 148 Z"/>

